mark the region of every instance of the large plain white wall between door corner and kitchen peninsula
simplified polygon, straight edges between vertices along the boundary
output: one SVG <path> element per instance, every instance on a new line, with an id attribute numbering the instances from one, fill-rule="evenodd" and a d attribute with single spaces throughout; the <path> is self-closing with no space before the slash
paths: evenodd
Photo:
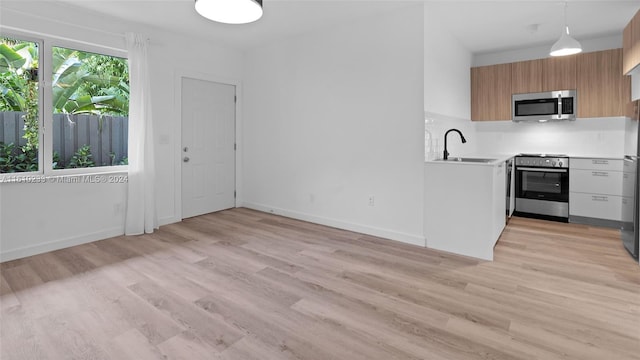
<path id="1" fill-rule="evenodd" d="M 424 245 L 422 14 L 247 54 L 243 205 Z"/>

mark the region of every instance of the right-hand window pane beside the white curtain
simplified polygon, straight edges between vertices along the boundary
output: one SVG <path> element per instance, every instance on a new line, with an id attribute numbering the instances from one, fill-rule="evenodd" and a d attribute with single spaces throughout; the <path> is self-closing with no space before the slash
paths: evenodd
<path id="1" fill-rule="evenodd" d="M 63 47 L 52 55 L 54 169 L 125 165 L 127 60 Z"/>

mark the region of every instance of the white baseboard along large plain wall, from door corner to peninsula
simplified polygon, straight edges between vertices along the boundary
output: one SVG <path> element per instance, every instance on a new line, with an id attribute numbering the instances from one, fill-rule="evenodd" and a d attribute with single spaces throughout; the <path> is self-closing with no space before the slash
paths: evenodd
<path id="1" fill-rule="evenodd" d="M 282 215 L 282 216 L 290 217 L 293 219 L 308 221 L 315 224 L 331 226 L 338 229 L 343 229 L 343 230 L 358 232 L 362 234 L 377 236 L 377 237 L 381 237 L 389 240 L 399 241 L 405 244 L 418 245 L 422 247 L 425 246 L 424 237 L 418 236 L 418 235 L 405 234 L 405 233 L 401 233 L 393 230 L 355 224 L 355 223 L 345 222 L 341 220 L 325 218 L 321 216 L 316 216 L 316 215 L 311 215 L 311 214 L 306 214 L 306 213 L 301 213 L 301 212 L 291 211 L 286 209 L 280 209 L 273 206 L 256 204 L 251 202 L 243 202 L 241 204 L 238 204 L 238 206 L 246 207 L 249 209 L 258 210 L 266 213 Z"/>

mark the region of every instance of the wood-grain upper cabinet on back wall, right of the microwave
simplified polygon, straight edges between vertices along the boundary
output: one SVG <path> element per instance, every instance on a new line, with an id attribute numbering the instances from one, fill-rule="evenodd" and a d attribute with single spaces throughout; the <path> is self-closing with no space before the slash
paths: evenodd
<path id="1" fill-rule="evenodd" d="M 622 49 L 577 57 L 578 117 L 625 116 L 631 78 L 622 75 Z"/>

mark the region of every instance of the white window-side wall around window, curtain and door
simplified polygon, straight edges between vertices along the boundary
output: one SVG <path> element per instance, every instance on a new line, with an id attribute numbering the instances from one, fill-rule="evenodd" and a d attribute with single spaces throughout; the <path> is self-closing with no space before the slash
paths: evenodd
<path id="1" fill-rule="evenodd" d="M 176 74 L 241 79 L 241 54 L 60 4 L 25 1 L 0 2 L 0 6 L 4 31 L 9 26 L 117 49 L 125 48 L 122 34 L 127 31 L 149 35 L 158 216 L 161 224 L 179 221 L 179 183 L 175 179 L 179 177 L 181 139 Z M 175 56 L 176 51 L 191 56 Z M 2 261 L 124 232 L 126 187 L 119 184 L 0 184 L 0 192 Z"/>

